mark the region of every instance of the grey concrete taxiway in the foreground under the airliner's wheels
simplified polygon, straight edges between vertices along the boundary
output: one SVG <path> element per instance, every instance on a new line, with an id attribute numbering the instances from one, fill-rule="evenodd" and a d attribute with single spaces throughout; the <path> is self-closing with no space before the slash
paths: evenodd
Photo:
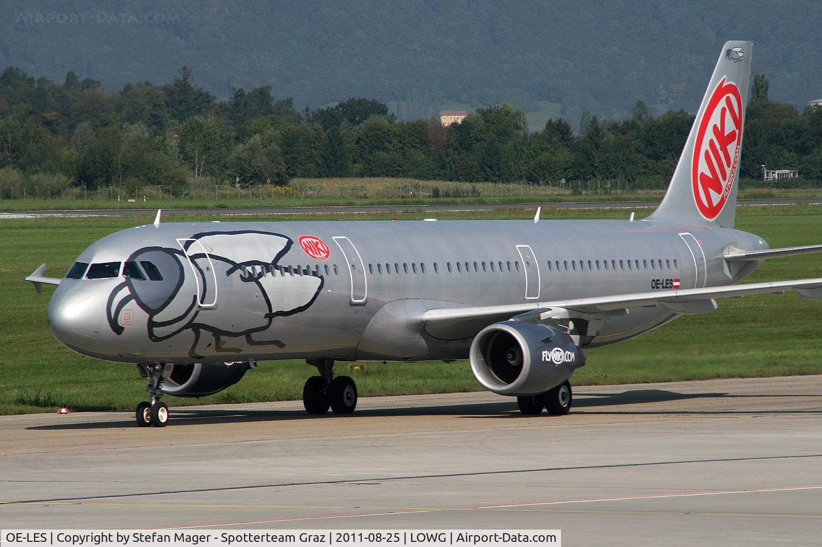
<path id="1" fill-rule="evenodd" d="M 820 542 L 822 376 L 0 416 L 3 528 L 561 529 L 563 545 Z"/>

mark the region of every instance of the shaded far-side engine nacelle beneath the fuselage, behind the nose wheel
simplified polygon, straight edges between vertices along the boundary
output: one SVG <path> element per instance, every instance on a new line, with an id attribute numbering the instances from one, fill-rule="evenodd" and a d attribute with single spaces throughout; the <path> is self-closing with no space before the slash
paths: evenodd
<path id="1" fill-rule="evenodd" d="M 237 384 L 252 364 L 245 361 L 173 367 L 171 374 L 163 381 L 163 393 L 175 397 L 205 397 Z"/>

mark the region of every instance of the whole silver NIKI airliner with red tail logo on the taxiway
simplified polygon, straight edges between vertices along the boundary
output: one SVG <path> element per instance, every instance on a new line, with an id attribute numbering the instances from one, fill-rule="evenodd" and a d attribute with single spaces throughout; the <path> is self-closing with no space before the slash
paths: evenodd
<path id="1" fill-rule="evenodd" d="M 335 361 L 469 358 L 480 384 L 524 414 L 566 414 L 586 347 L 619 342 L 714 299 L 794 290 L 822 278 L 734 285 L 769 249 L 733 229 L 750 42 L 727 42 L 670 186 L 641 221 L 160 223 L 116 232 L 77 257 L 48 326 L 85 356 L 135 363 L 160 397 L 236 384 L 256 361 L 305 359 L 311 414 L 349 413 L 357 388 Z"/>

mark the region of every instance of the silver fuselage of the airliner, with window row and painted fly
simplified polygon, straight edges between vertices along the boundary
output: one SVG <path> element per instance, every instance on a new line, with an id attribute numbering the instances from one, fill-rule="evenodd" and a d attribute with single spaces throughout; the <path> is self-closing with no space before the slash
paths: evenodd
<path id="1" fill-rule="evenodd" d="M 161 223 L 104 237 L 77 261 L 152 261 L 163 280 L 124 277 L 122 266 L 62 279 L 48 322 L 67 347 L 108 361 L 464 359 L 487 322 L 441 339 L 419 316 L 728 285 L 760 264 L 729 265 L 732 248 L 768 246 L 733 229 L 650 221 Z M 676 317 L 635 308 L 580 345 Z"/>

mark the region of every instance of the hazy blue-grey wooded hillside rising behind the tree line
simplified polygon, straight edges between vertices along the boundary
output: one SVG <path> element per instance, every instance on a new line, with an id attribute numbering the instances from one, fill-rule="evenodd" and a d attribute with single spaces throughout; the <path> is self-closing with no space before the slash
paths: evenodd
<path id="1" fill-rule="evenodd" d="M 822 97 L 819 21 L 815 0 L 7 0 L 0 69 L 74 71 L 114 90 L 187 65 L 219 99 L 271 85 L 298 109 L 367 97 L 400 119 L 510 102 L 540 129 L 584 110 L 630 117 L 638 99 L 654 114 L 694 111 L 732 38 L 755 41 L 770 98 L 801 109 Z"/>

